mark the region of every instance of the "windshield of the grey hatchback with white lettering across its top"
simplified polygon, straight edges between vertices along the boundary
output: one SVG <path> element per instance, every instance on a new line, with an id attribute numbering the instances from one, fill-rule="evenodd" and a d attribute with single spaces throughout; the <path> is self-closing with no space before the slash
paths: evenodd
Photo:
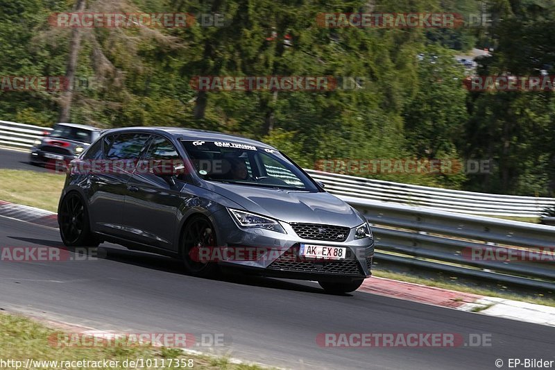
<path id="1" fill-rule="evenodd" d="M 236 142 L 182 143 L 204 180 L 318 192 L 311 179 L 275 149 Z"/>

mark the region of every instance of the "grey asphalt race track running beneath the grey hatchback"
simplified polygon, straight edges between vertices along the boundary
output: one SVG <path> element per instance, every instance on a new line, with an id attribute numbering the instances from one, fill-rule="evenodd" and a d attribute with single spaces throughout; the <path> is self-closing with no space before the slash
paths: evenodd
<path id="1" fill-rule="evenodd" d="M 20 161 L 4 154 L 0 167 L 8 157 Z M 61 242 L 56 229 L 0 217 L 0 246 Z M 362 292 L 330 296 L 311 282 L 193 278 L 176 260 L 112 244 L 100 251 L 97 260 L 0 261 L 0 309 L 99 330 L 223 333 L 226 346 L 216 353 L 294 369 L 496 369 L 496 359 L 503 368 L 509 358 L 553 360 L 555 328 L 547 326 Z M 484 334 L 492 345 L 322 348 L 319 333 Z"/>

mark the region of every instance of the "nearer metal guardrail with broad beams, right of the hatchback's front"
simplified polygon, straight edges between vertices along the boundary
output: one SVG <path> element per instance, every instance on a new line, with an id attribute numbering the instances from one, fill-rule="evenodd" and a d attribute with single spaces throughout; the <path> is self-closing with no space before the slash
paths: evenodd
<path id="1" fill-rule="evenodd" d="M 339 198 L 373 224 L 377 262 L 555 292 L 554 226 Z"/>

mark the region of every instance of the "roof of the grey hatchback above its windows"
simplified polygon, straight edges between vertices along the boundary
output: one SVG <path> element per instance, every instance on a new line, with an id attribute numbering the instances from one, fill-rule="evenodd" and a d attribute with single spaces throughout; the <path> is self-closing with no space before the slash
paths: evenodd
<path id="1" fill-rule="evenodd" d="M 241 144 L 250 144 L 254 146 L 263 146 L 266 148 L 273 148 L 273 146 L 264 144 L 263 142 L 259 142 L 257 140 L 247 139 L 246 137 L 242 137 L 239 135 L 232 135 L 227 133 L 219 133 L 216 131 L 207 131 L 207 130 L 200 130 L 196 128 L 180 128 L 180 127 L 146 127 L 146 126 L 138 126 L 138 127 L 126 127 L 126 128 L 110 128 L 107 130 L 110 133 L 117 133 L 117 132 L 126 132 L 126 131 L 146 131 L 149 133 L 166 133 L 178 140 L 205 140 L 205 141 L 230 141 L 241 143 Z"/>

